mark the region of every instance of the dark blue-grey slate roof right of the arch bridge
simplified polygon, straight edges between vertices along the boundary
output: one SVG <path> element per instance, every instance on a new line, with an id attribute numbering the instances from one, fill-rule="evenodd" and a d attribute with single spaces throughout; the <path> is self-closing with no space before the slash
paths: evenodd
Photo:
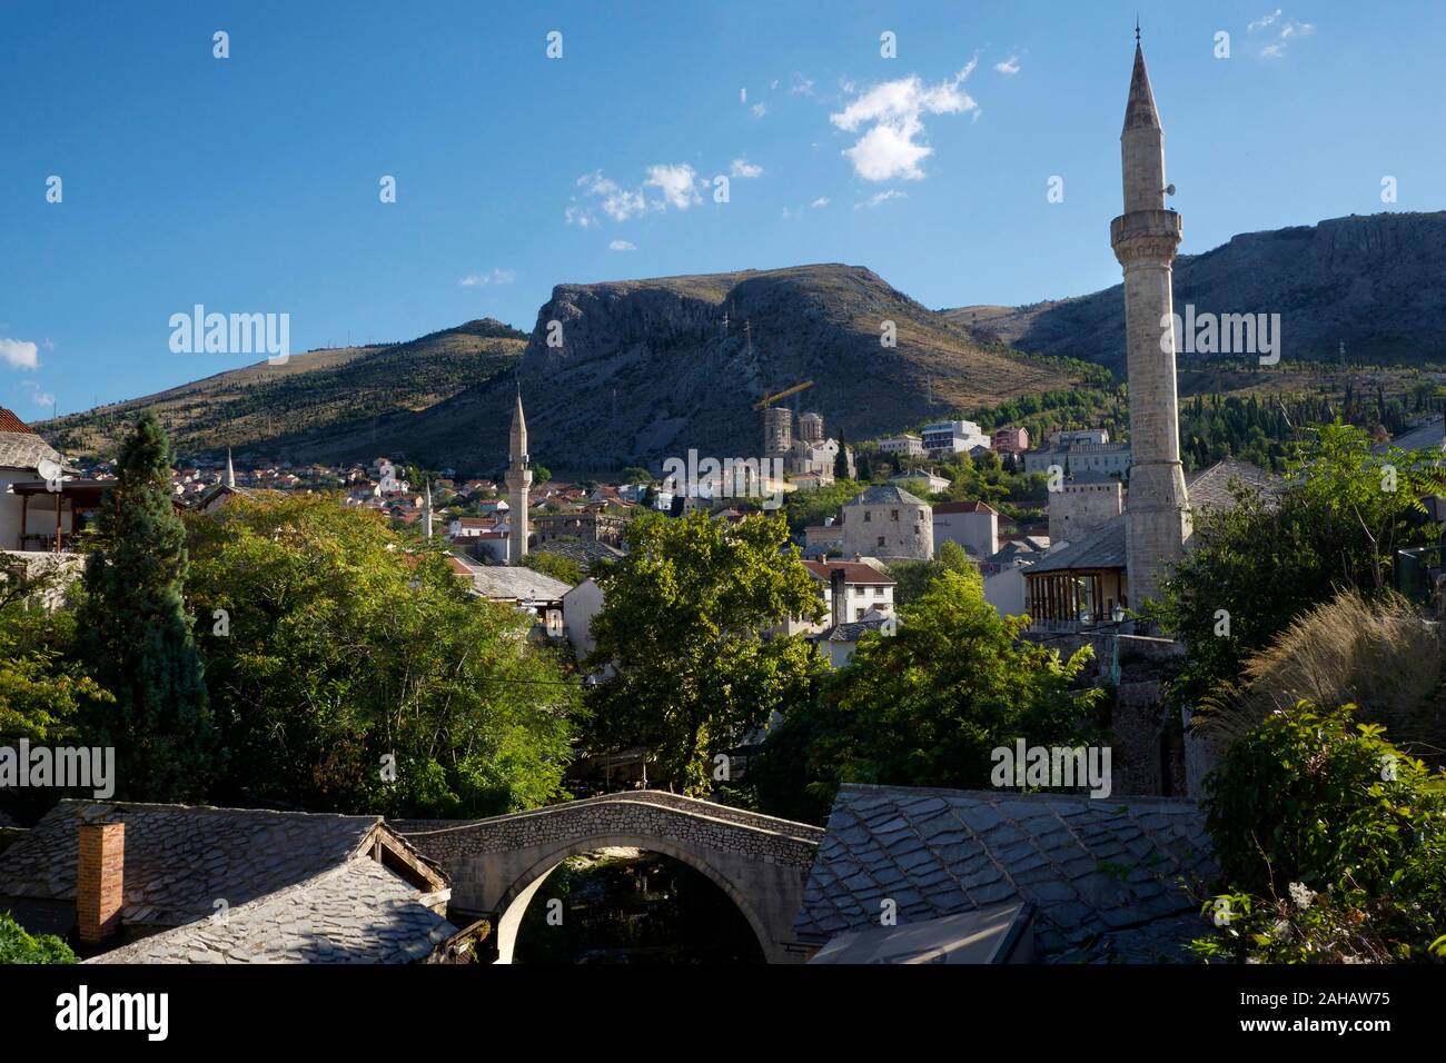
<path id="1" fill-rule="evenodd" d="M 901 924 L 1031 901 L 1047 962 L 1184 959 L 1209 927 L 1177 879 L 1213 874 L 1193 801 L 844 784 L 794 933 L 876 926 L 885 898 Z"/>

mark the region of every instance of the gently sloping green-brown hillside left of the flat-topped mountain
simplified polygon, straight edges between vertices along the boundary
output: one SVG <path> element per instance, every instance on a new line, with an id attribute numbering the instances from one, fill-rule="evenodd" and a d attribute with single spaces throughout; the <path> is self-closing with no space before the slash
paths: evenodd
<path id="1" fill-rule="evenodd" d="M 110 454 L 123 427 L 155 409 L 182 454 L 227 445 L 275 454 L 278 438 L 351 435 L 373 418 L 434 406 L 516 366 L 525 346 L 526 333 L 500 321 L 469 321 L 409 343 L 314 350 L 282 366 L 260 362 L 39 428 L 68 456 Z"/>

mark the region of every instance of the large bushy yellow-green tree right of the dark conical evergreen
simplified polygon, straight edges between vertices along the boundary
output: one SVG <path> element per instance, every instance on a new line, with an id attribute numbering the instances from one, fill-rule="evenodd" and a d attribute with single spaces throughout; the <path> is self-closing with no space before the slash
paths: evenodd
<path id="1" fill-rule="evenodd" d="M 486 816 L 561 794 L 578 684 L 440 550 L 331 499 L 188 521 L 226 800 Z"/>

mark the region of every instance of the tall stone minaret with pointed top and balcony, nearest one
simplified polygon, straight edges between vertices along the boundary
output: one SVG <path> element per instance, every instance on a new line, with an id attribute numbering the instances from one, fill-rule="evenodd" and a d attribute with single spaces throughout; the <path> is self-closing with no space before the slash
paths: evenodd
<path id="1" fill-rule="evenodd" d="M 1180 215 L 1165 210 L 1165 146 L 1145 54 L 1135 27 L 1125 130 L 1119 135 L 1125 213 L 1109 223 L 1109 243 L 1125 268 L 1125 343 L 1129 366 L 1129 500 L 1125 565 L 1129 606 L 1160 596 L 1168 565 L 1190 537 L 1190 502 L 1180 464 L 1171 263 Z"/>

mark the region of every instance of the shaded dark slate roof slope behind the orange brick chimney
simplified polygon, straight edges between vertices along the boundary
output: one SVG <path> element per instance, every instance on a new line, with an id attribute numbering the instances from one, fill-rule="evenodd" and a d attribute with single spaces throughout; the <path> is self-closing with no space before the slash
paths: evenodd
<path id="1" fill-rule="evenodd" d="M 126 824 L 121 920 L 174 927 L 208 918 L 351 859 L 380 816 L 65 800 L 0 856 L 0 895 L 75 900 L 81 820 Z"/>

